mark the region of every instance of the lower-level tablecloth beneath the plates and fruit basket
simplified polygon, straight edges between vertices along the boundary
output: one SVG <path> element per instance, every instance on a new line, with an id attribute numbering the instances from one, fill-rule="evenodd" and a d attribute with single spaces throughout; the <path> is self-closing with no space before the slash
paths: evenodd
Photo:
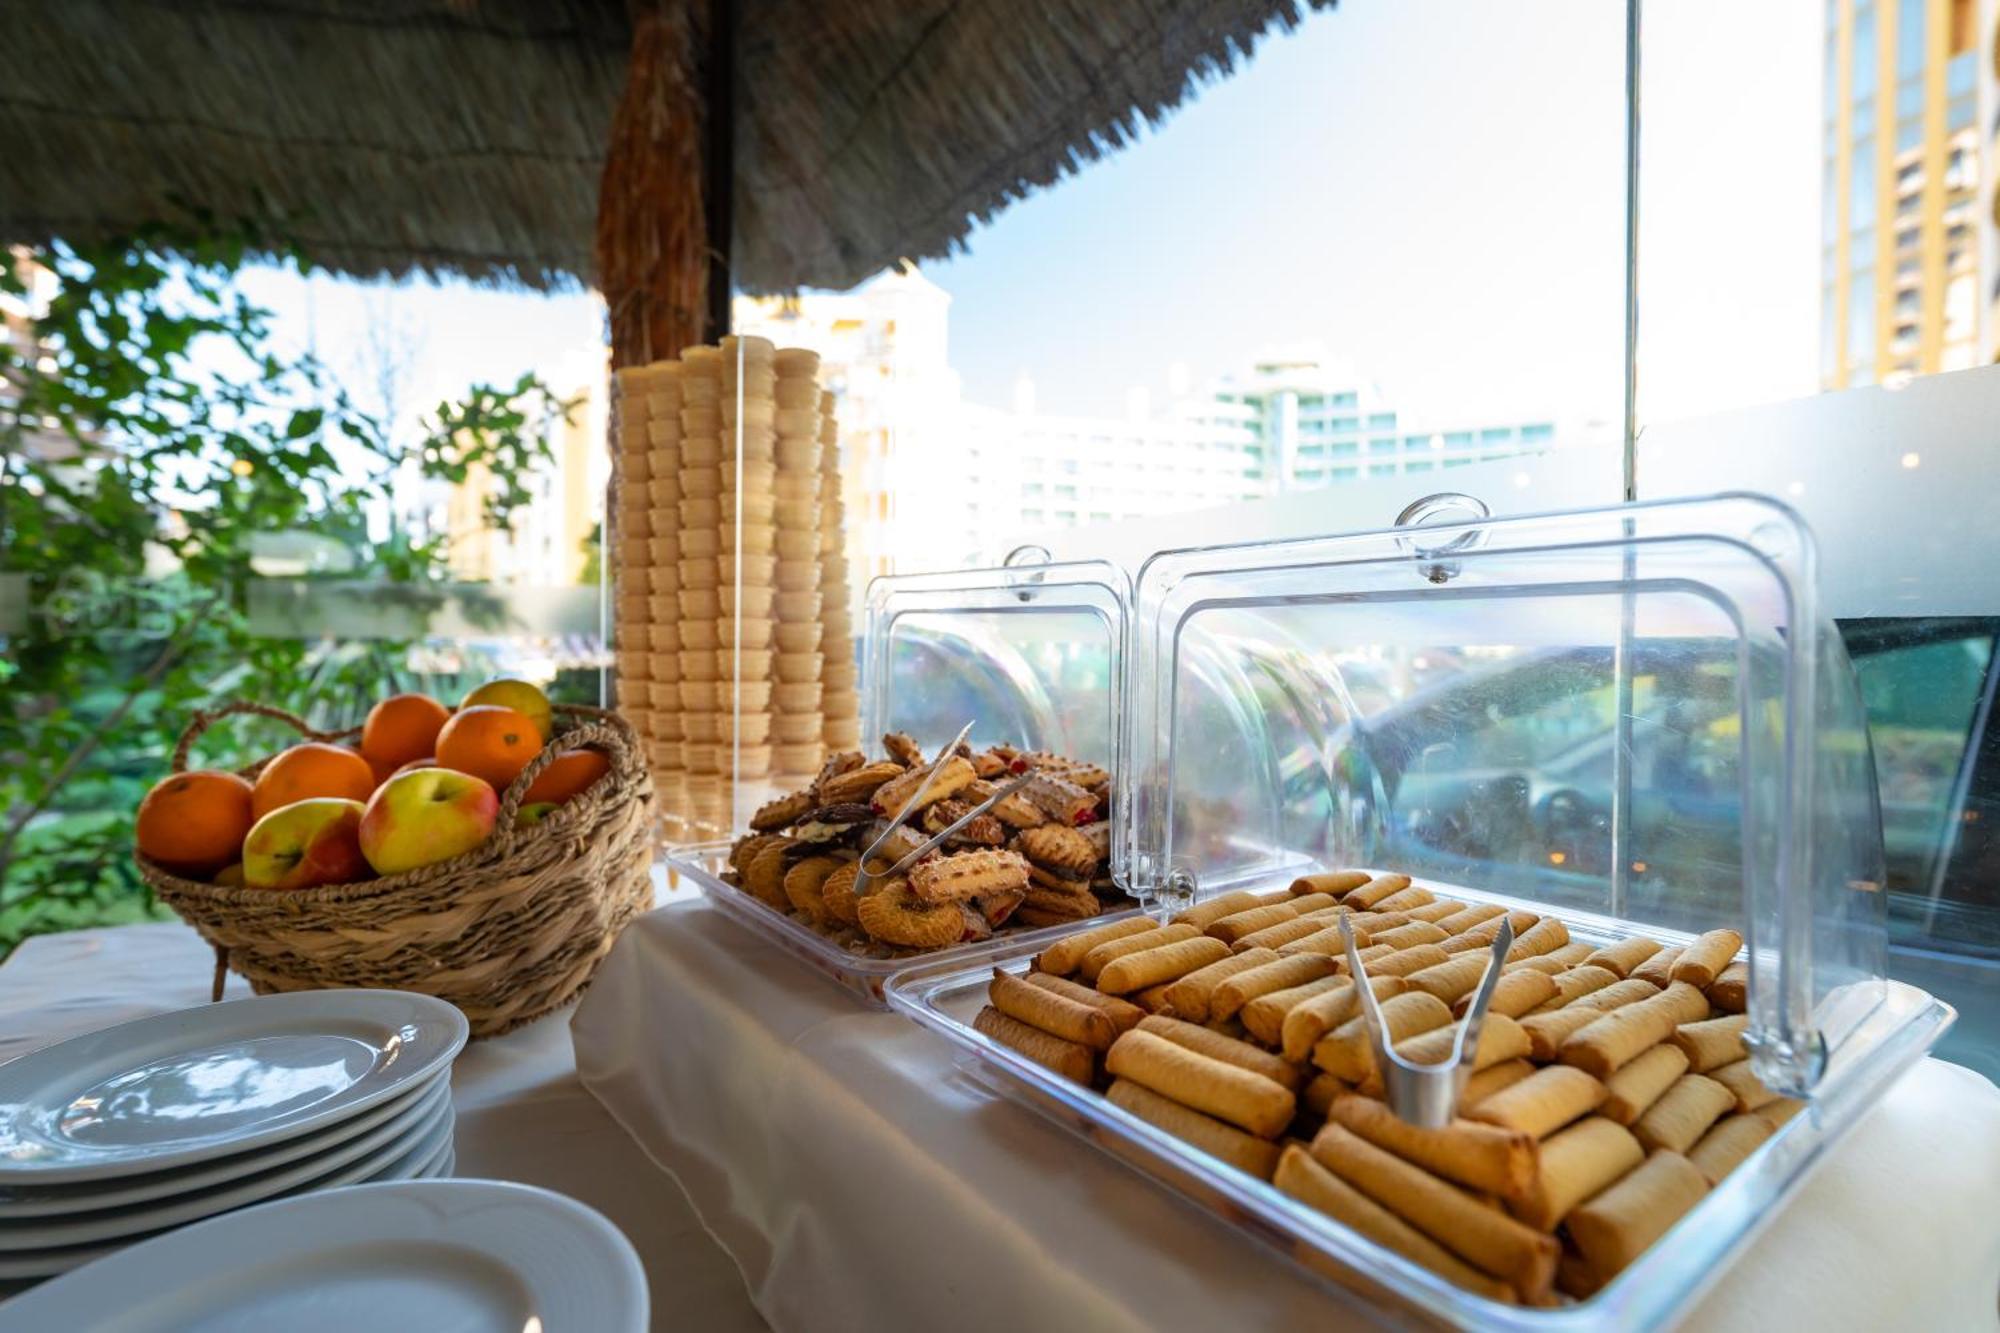
<path id="1" fill-rule="evenodd" d="M 212 979 L 214 953 L 182 925 L 32 939 L 0 967 L 0 1061 L 74 1033 L 202 1005 Z M 230 977 L 230 999 L 248 993 Z M 686 1197 L 576 1081 L 566 1019 L 556 1013 L 476 1041 L 458 1057 L 458 1175 L 542 1185 L 610 1217 L 646 1263 L 656 1329 L 762 1329 L 736 1265 L 702 1231 Z"/>

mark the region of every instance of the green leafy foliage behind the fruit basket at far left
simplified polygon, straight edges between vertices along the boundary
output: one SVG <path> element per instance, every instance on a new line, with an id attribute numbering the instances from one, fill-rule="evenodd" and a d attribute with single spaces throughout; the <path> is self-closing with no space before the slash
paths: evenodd
<path id="1" fill-rule="evenodd" d="M 276 250 L 158 228 L 0 264 L 0 296 L 30 312 L 0 342 L 0 951 L 156 915 L 132 813 L 196 711 L 260 699 L 348 727 L 426 685 L 408 642 L 252 632 L 260 542 L 332 538 L 416 594 L 444 580 L 446 550 L 390 512 L 394 476 L 484 464 L 484 518 L 506 526 L 572 406 L 534 376 L 478 384 L 398 438 L 326 366 L 274 350 L 270 312 L 234 284 L 252 246 Z M 28 304 L 34 268 L 54 276 L 46 306 Z M 218 729 L 200 761 L 284 741 Z"/>

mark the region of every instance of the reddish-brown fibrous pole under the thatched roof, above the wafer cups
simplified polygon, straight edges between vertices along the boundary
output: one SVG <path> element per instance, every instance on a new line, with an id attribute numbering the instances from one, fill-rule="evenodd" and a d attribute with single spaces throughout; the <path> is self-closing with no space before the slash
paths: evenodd
<path id="1" fill-rule="evenodd" d="M 726 2 L 632 4 L 632 56 L 598 182 L 598 290 L 610 308 L 612 366 L 672 358 L 714 332 L 706 196 L 716 176 L 704 66 L 712 6 L 720 12 Z"/>

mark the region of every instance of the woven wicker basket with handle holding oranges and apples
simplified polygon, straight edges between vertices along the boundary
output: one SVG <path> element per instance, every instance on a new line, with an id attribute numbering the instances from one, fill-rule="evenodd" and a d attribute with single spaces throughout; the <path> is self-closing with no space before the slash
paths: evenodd
<path id="1" fill-rule="evenodd" d="M 402 875 L 318 889 L 242 889 L 182 879 L 138 857 L 146 885 L 258 995 L 324 987 L 422 991 L 458 1005 L 474 1037 L 560 1009 L 590 983 L 618 931 L 652 905 L 654 803 L 640 741 L 614 713 L 556 705 L 556 741 L 500 797 L 480 847 Z M 270 717 L 308 741 L 346 743 L 282 709 L 234 703 L 196 715 L 174 773 L 210 727 Z M 536 825 L 516 829 L 522 793 L 562 749 L 602 751 L 610 771 Z M 246 779 L 270 763 L 242 769 Z"/>

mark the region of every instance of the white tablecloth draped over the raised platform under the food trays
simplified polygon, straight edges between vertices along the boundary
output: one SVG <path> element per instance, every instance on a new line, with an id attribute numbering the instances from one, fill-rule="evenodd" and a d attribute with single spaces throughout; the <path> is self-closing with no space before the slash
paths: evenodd
<path id="1" fill-rule="evenodd" d="M 1368 1323 L 706 905 L 636 921 L 570 1027 L 778 1329 Z M 2000 1327 L 1996 1199 L 2000 1091 L 1926 1061 L 1686 1327 Z"/>

